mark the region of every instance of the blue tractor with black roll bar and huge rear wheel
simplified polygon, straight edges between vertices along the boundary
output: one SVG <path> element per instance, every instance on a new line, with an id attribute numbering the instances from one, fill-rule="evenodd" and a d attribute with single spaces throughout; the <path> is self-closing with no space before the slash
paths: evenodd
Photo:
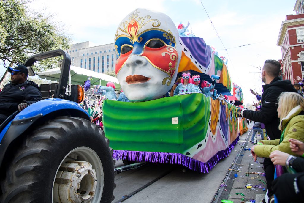
<path id="1" fill-rule="evenodd" d="M 54 97 L 16 111 L 0 126 L 0 202 L 111 202 L 113 150 L 104 132 L 78 106 L 80 85 L 67 91 L 71 57 L 63 50 L 33 55 L 31 66 L 63 56 Z"/>

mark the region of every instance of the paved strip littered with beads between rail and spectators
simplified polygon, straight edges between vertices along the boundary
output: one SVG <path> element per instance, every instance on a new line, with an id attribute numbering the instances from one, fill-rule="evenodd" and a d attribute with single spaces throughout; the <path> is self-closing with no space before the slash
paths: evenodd
<path id="1" fill-rule="evenodd" d="M 266 187 L 266 180 L 264 174 L 259 174 L 264 173 L 264 170 L 262 168 L 264 158 L 258 157 L 257 162 L 254 162 L 254 159 L 251 155 L 251 151 L 245 150 L 252 147 L 252 144 L 250 143 L 252 135 L 252 125 L 253 123 L 249 124 L 248 131 L 240 136 L 240 141 L 238 142 L 238 145 L 242 146 L 239 150 L 239 154 L 236 156 L 235 164 L 230 167 L 230 169 L 233 170 L 228 171 L 227 176 L 222 184 L 223 187 L 221 187 L 221 190 L 218 194 L 220 196 L 217 202 L 221 202 L 221 200 L 225 199 L 233 201 L 234 203 L 259 203 L 262 202 L 262 199 L 264 198 L 266 191 L 263 191 L 262 188 L 259 188 Z M 258 134 L 257 141 L 259 141 L 260 139 L 261 137 Z M 235 176 L 237 177 L 235 178 Z M 251 188 L 246 187 L 246 185 L 248 186 L 248 184 L 251 186 Z M 258 197 L 257 199 L 256 195 Z"/>

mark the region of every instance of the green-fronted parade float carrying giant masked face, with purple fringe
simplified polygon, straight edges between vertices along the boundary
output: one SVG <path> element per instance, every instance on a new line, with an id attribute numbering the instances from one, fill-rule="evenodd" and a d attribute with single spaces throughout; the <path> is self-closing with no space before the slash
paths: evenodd
<path id="1" fill-rule="evenodd" d="M 136 9 L 119 24 L 115 48 L 117 79 L 131 102 L 103 103 L 104 132 L 114 159 L 179 164 L 208 173 L 228 156 L 246 128 L 244 119 L 235 116 L 235 105 L 201 93 L 164 97 L 185 71 L 210 82 L 217 75 L 218 93 L 230 93 L 225 63 L 202 38 L 179 37 L 167 15 Z"/>

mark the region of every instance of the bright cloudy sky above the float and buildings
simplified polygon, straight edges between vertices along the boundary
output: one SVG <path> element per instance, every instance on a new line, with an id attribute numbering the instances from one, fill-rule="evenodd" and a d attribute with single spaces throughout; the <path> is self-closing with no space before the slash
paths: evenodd
<path id="1" fill-rule="evenodd" d="M 164 12 L 176 26 L 189 21 L 190 31 L 216 47 L 219 56 L 228 58 L 232 81 L 242 86 L 246 104 L 252 103 L 254 98 L 249 93 L 250 88 L 261 92 L 261 74 L 254 73 L 260 70 L 254 67 L 262 67 L 266 59 L 282 59 L 281 49 L 276 45 L 278 34 L 286 15 L 295 14 L 295 2 L 202 0 L 228 54 L 199 0 L 33 0 L 28 6 L 54 14 L 54 22 L 64 26 L 73 43 L 113 43 L 118 24 L 136 8 Z M 243 46 L 246 44 L 251 45 Z"/>

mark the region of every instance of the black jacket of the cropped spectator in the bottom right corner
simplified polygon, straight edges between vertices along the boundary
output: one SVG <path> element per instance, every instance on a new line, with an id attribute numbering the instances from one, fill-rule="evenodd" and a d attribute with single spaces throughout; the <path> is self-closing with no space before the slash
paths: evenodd
<path id="1" fill-rule="evenodd" d="M 284 173 L 272 182 L 272 189 L 279 203 L 303 202 L 304 199 L 304 159 L 297 157 L 292 167 L 298 172 Z"/>

